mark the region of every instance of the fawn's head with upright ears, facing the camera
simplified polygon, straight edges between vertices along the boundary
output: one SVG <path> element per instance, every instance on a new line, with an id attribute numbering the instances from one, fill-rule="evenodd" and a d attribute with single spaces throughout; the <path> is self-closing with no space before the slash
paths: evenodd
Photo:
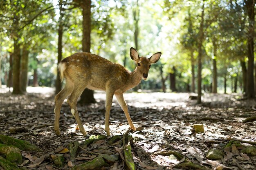
<path id="1" fill-rule="evenodd" d="M 144 80 L 148 78 L 148 71 L 151 67 L 151 64 L 155 64 L 161 57 L 161 54 L 161 52 L 158 52 L 153 54 L 149 58 L 139 57 L 137 50 L 133 47 L 130 48 L 130 57 L 137 65 L 135 69 L 137 73 L 141 76 L 141 78 Z"/>

